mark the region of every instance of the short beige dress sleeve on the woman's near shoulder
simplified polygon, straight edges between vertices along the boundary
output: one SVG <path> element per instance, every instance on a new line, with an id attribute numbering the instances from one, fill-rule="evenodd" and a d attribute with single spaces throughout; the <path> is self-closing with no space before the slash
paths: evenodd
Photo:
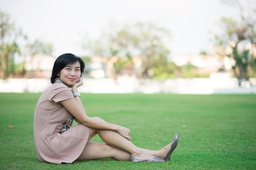
<path id="1" fill-rule="evenodd" d="M 51 90 L 51 95 L 49 100 L 54 101 L 55 103 L 63 100 L 74 98 L 73 93 L 70 88 L 60 83 L 56 83 Z"/>

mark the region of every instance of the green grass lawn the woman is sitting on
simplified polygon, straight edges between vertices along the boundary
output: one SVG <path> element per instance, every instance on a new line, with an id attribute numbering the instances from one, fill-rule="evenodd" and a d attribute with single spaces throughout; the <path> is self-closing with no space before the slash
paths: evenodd
<path id="1" fill-rule="evenodd" d="M 39 96 L 0 93 L 1 170 L 256 169 L 256 95 L 82 94 L 89 116 L 128 127 L 139 147 L 160 149 L 175 133 L 180 139 L 165 163 L 102 159 L 65 165 L 37 159 L 33 119 Z"/>

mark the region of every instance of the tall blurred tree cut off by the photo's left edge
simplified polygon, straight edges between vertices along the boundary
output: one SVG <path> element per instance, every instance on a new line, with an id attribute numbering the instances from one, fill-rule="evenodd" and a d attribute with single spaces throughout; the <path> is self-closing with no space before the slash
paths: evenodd
<path id="1" fill-rule="evenodd" d="M 17 31 L 9 15 L 0 11 L 0 78 L 6 79 L 14 70 L 14 54 L 20 54 L 17 44 L 19 37 L 26 38 Z"/>

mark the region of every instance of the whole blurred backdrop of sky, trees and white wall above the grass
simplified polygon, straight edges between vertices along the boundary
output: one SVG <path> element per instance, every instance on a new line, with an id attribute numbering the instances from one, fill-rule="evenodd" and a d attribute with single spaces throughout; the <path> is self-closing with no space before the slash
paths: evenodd
<path id="1" fill-rule="evenodd" d="M 0 92 L 43 92 L 55 59 L 87 93 L 256 93 L 255 0 L 0 0 Z"/>

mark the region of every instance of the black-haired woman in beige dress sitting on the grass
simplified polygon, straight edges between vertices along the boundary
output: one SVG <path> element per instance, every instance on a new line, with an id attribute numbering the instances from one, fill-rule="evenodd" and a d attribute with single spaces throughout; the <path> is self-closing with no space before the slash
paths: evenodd
<path id="1" fill-rule="evenodd" d="M 177 134 L 161 150 L 146 150 L 130 142 L 130 130 L 126 127 L 86 115 L 78 92 L 83 85 L 84 68 L 83 60 L 74 54 L 63 54 L 56 59 L 52 85 L 39 98 L 35 109 L 34 141 L 38 159 L 55 164 L 105 158 L 168 161 L 177 146 Z M 72 126 L 73 119 L 79 124 Z M 106 143 L 91 142 L 96 134 Z"/>

